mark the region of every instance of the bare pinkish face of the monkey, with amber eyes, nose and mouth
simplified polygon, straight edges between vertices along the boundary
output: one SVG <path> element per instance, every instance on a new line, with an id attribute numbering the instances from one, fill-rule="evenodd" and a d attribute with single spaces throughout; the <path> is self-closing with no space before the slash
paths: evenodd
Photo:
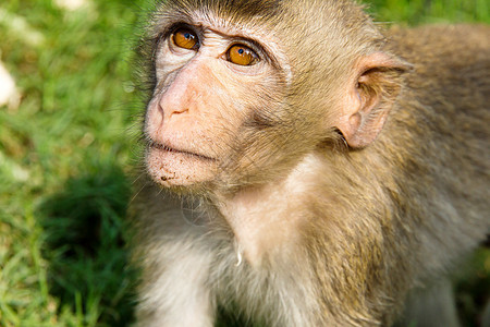
<path id="1" fill-rule="evenodd" d="M 175 22 L 156 45 L 146 160 L 150 177 L 163 186 L 246 175 L 247 169 L 260 169 L 261 153 L 270 152 L 265 144 L 273 136 L 260 130 L 281 119 L 286 63 L 271 55 L 278 53 L 272 41 L 217 26 Z"/>

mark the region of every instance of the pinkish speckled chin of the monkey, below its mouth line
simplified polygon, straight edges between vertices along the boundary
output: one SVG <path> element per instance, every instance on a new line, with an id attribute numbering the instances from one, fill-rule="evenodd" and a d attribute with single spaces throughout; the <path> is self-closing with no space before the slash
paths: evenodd
<path id="1" fill-rule="evenodd" d="M 210 182 L 218 166 L 212 158 L 155 146 L 147 149 L 146 164 L 151 179 L 164 187 L 193 187 Z"/>

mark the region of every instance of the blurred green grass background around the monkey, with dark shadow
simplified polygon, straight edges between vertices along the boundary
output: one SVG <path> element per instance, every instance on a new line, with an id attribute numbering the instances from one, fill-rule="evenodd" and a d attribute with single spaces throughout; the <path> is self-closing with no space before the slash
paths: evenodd
<path id="1" fill-rule="evenodd" d="M 0 106 L 2 327 L 132 322 L 124 217 L 137 161 L 131 62 L 144 2 L 0 2 L 0 62 L 17 89 Z M 490 23 L 489 0 L 368 3 L 380 22 Z M 478 326 L 489 271 L 481 250 L 457 288 L 465 326 Z"/>

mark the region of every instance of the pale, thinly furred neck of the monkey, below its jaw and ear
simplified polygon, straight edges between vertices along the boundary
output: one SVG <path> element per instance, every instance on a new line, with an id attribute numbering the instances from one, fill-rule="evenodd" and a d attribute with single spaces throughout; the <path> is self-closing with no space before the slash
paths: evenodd
<path id="1" fill-rule="evenodd" d="M 282 180 L 220 198 L 219 210 L 252 266 L 260 266 L 267 257 L 287 255 L 287 249 L 301 241 L 301 225 L 308 219 L 305 202 L 319 169 L 319 158 L 308 155 Z"/>

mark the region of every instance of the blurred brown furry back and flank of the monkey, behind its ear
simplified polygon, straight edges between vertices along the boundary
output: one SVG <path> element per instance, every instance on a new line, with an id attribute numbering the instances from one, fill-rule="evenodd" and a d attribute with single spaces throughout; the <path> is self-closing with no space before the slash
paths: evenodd
<path id="1" fill-rule="evenodd" d="M 394 27 L 388 36 L 414 69 L 381 143 L 406 146 L 392 155 L 403 161 L 402 195 L 420 207 L 422 247 L 442 243 L 438 249 L 457 257 L 490 231 L 490 27 Z M 427 265 L 446 266 L 452 257 L 438 255 Z"/>

